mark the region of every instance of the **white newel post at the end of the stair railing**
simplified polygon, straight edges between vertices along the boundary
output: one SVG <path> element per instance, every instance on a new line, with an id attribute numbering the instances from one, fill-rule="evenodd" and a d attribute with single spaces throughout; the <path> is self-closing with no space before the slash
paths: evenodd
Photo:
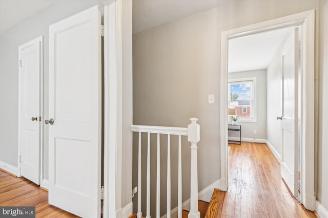
<path id="1" fill-rule="evenodd" d="M 197 118 L 190 118 L 188 125 L 188 141 L 191 143 L 190 162 L 190 212 L 188 218 L 199 218 L 198 211 L 198 178 L 197 178 L 197 142 L 200 139 L 200 127 L 196 123 Z"/>

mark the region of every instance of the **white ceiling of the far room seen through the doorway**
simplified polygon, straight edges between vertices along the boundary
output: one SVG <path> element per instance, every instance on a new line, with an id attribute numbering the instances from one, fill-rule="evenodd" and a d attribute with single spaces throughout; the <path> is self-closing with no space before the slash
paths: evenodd
<path id="1" fill-rule="evenodd" d="M 289 29 L 229 40 L 228 71 L 267 69 Z"/>

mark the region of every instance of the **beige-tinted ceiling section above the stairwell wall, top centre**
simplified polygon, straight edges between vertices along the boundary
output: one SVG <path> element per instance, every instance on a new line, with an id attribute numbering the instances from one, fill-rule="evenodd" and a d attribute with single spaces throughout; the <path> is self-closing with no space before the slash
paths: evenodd
<path id="1" fill-rule="evenodd" d="M 133 0 L 133 33 L 210 10 L 232 0 Z"/>

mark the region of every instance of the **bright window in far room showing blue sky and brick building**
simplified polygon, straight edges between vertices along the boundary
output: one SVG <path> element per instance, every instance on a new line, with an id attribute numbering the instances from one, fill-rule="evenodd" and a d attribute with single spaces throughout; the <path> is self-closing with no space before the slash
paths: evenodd
<path id="1" fill-rule="evenodd" d="M 235 108 L 239 122 L 256 122 L 256 77 L 228 81 L 228 107 Z"/>

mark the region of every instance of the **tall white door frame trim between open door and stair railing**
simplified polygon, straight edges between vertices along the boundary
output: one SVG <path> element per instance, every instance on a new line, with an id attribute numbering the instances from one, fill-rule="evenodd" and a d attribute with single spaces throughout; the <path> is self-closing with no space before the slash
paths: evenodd
<path id="1" fill-rule="evenodd" d="M 103 217 L 121 217 L 122 3 L 104 7 L 104 206 Z"/>

